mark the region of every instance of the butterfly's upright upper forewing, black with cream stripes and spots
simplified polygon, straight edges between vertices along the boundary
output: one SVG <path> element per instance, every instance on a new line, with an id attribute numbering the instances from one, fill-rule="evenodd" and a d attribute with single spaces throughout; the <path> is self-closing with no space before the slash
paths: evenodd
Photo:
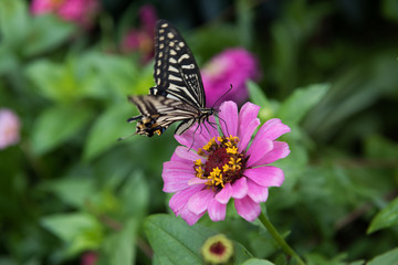
<path id="1" fill-rule="evenodd" d="M 184 38 L 166 20 L 156 24 L 155 83 L 151 95 L 187 102 L 197 108 L 206 106 L 199 67 Z"/>

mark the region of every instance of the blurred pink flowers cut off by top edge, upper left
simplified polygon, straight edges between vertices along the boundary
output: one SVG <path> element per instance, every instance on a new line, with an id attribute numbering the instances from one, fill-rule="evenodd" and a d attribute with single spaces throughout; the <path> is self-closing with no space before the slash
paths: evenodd
<path id="1" fill-rule="evenodd" d="M 33 14 L 54 13 L 65 21 L 90 28 L 98 13 L 98 0 L 32 0 Z"/>

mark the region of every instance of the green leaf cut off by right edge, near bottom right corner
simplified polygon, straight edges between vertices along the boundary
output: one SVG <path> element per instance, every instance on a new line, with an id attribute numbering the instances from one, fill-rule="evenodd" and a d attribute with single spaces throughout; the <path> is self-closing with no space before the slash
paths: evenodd
<path id="1" fill-rule="evenodd" d="M 392 200 L 371 220 L 367 233 L 373 233 L 380 229 L 398 225 L 398 198 Z"/>

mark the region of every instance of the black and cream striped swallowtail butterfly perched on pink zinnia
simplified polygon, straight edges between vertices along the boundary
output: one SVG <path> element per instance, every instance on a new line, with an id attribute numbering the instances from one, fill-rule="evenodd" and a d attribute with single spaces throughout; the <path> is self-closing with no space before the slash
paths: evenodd
<path id="1" fill-rule="evenodd" d="M 161 135 L 181 121 L 175 132 L 181 135 L 195 123 L 209 123 L 214 109 L 206 107 L 198 64 L 184 38 L 166 20 L 156 23 L 154 77 L 156 86 L 149 95 L 128 97 L 140 113 L 127 119 L 137 121 L 136 134 Z"/>

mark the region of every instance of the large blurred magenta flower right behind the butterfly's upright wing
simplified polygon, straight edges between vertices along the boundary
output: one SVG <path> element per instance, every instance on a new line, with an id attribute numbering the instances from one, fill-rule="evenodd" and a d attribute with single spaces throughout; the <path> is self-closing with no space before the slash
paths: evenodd
<path id="1" fill-rule="evenodd" d="M 214 103 L 231 87 L 221 99 L 243 104 L 249 96 L 245 82 L 259 81 L 260 66 L 253 54 L 242 47 L 229 49 L 214 56 L 201 70 L 206 92 L 206 105 Z"/>

